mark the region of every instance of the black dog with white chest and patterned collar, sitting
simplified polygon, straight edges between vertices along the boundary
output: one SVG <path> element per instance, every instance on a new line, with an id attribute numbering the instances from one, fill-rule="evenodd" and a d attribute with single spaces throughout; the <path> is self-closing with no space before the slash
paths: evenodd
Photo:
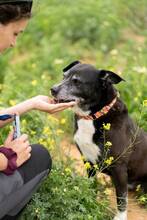
<path id="1" fill-rule="evenodd" d="M 103 160 L 105 143 L 112 143 L 107 158 L 114 160 L 103 172 L 111 176 L 116 188 L 118 213 L 114 219 L 127 220 L 128 184 L 147 182 L 147 133 L 133 123 L 117 95 L 113 84 L 123 81 L 120 76 L 79 61 L 63 72 L 63 81 L 51 89 L 52 95 L 58 102 L 77 101 L 74 139 L 91 164 L 89 176 L 95 173 L 94 165 Z M 110 130 L 104 131 L 107 123 Z"/>

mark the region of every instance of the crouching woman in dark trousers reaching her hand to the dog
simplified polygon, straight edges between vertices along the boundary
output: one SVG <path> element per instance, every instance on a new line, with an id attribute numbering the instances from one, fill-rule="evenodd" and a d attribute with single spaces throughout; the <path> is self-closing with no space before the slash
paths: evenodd
<path id="1" fill-rule="evenodd" d="M 0 0 L 0 53 L 15 46 L 28 24 L 31 9 L 32 0 Z M 37 96 L 1 110 L 0 115 L 21 115 L 34 109 L 55 113 L 74 104 L 53 104 L 47 96 Z M 0 127 L 10 121 L 0 121 Z M 13 140 L 11 132 L 0 148 L 0 219 L 16 219 L 50 170 L 51 157 L 43 146 L 30 146 L 26 134 Z"/>

